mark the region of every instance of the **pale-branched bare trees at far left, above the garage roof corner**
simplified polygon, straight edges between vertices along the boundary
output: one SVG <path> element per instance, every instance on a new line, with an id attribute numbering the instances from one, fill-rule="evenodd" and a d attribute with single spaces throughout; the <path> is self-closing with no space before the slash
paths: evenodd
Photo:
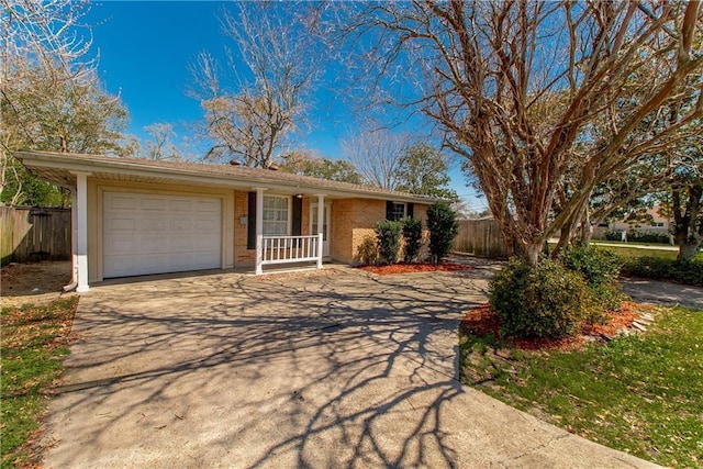
<path id="1" fill-rule="evenodd" d="M 104 92 L 97 60 L 87 57 L 91 40 L 82 16 L 88 2 L 0 1 L 0 193 L 16 203 L 32 178 L 13 150 L 121 154 L 126 110 L 119 97 Z M 4 193 L 8 188 L 11 194 Z"/>

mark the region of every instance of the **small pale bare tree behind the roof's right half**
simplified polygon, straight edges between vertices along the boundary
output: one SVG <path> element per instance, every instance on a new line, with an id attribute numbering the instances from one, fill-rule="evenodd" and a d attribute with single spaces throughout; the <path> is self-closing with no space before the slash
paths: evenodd
<path id="1" fill-rule="evenodd" d="M 408 135 L 367 125 L 342 141 L 342 152 L 368 186 L 395 190 L 401 182 L 401 157 L 409 144 Z"/>

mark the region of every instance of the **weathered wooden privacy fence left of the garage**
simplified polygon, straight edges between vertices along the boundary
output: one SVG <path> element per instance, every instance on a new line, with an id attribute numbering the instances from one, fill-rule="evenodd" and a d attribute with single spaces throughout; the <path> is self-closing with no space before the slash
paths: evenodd
<path id="1" fill-rule="evenodd" d="M 0 206 L 2 265 L 70 259 L 70 209 Z"/>

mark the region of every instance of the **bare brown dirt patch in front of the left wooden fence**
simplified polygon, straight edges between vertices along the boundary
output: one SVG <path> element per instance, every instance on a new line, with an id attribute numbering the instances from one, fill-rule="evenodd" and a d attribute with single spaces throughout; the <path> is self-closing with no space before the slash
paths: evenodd
<path id="1" fill-rule="evenodd" d="M 10 264 L 0 275 L 0 305 L 45 303 L 58 298 L 70 282 L 70 261 Z"/>

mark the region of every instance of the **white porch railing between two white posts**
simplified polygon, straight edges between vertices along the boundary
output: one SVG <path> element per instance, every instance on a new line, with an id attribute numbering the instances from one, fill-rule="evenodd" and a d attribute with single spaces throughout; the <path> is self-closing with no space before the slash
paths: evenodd
<path id="1" fill-rule="evenodd" d="M 322 233 L 309 236 L 263 236 L 256 243 L 256 273 L 263 266 L 289 263 L 317 263 L 322 269 Z"/>

